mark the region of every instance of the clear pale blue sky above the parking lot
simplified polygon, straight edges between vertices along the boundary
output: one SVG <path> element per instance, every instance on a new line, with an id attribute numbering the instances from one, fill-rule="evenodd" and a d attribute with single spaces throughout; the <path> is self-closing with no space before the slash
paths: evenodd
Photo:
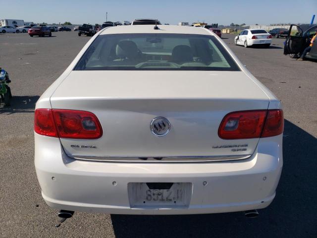
<path id="1" fill-rule="evenodd" d="M 317 0 L 0 0 L 0 19 L 72 24 L 156 18 L 161 23 L 310 23 Z M 8 7 L 9 6 L 9 7 Z M 317 16 L 315 23 L 317 22 Z"/>

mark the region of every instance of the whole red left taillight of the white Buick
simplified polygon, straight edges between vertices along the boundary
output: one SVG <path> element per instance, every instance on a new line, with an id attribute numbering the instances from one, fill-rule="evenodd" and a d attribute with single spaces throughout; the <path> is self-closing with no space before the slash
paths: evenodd
<path id="1" fill-rule="evenodd" d="M 49 123 L 52 124 L 51 121 L 53 121 L 52 130 L 54 129 L 54 133 L 52 134 L 46 133 L 45 127 L 42 128 L 38 126 L 38 116 L 43 112 L 51 115 Z M 45 119 L 42 120 L 45 121 Z M 37 109 L 35 111 L 34 121 L 35 132 L 47 136 L 73 139 L 97 139 L 103 134 L 99 120 L 90 112 Z"/>

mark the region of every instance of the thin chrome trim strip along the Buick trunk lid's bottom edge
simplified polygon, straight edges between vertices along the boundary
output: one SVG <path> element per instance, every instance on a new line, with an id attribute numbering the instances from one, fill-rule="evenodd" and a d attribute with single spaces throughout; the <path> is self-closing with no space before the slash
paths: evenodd
<path id="1" fill-rule="evenodd" d="M 106 161 L 106 162 L 215 162 L 229 160 L 243 160 L 251 155 L 233 156 L 166 156 L 166 157 L 124 157 L 124 156 L 82 156 L 68 155 L 76 160 Z"/>

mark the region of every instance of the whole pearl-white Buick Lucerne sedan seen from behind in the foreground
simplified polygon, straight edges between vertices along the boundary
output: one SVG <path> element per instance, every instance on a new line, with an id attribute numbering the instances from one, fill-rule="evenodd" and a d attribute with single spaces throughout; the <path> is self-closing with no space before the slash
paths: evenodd
<path id="1" fill-rule="evenodd" d="M 282 170 L 280 101 L 208 29 L 109 27 L 35 110 L 47 204 L 110 214 L 267 207 Z"/>

